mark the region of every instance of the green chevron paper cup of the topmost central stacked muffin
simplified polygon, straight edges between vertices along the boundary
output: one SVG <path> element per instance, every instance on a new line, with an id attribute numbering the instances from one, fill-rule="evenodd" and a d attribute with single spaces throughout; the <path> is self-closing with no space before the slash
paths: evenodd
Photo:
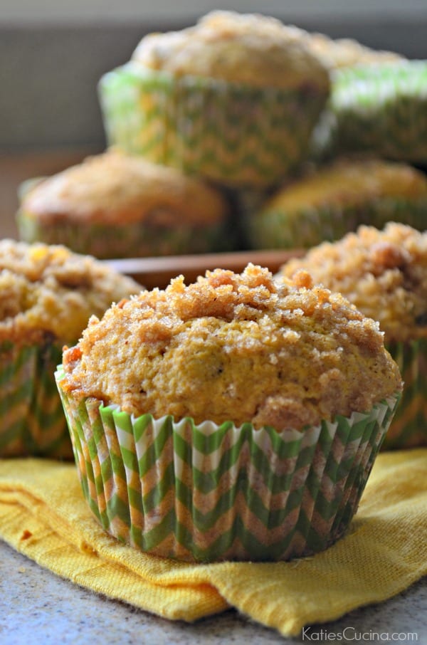
<path id="1" fill-rule="evenodd" d="M 102 76 L 107 141 L 228 185 L 265 186 L 306 156 L 327 92 L 174 77 L 127 63 Z"/>

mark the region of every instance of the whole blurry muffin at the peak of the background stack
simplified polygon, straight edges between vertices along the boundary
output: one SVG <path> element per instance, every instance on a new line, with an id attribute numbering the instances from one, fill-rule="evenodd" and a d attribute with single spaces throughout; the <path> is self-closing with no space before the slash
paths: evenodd
<path id="1" fill-rule="evenodd" d="M 329 92 L 326 68 L 292 29 L 232 11 L 145 36 L 100 80 L 110 144 L 232 187 L 297 167 Z"/>

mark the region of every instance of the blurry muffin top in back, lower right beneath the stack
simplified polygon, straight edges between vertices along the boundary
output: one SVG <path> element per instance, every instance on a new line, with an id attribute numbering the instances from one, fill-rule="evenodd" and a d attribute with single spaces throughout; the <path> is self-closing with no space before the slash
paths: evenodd
<path id="1" fill-rule="evenodd" d="M 379 159 L 344 160 L 321 168 L 280 189 L 265 210 L 300 210 L 321 206 L 364 204 L 383 197 L 427 198 L 423 172 Z"/>

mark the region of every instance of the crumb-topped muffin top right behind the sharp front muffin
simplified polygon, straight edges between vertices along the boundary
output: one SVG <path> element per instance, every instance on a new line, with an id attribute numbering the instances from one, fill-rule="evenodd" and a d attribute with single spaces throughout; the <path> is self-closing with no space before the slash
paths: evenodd
<path id="1" fill-rule="evenodd" d="M 384 231 L 360 226 L 290 260 L 280 276 L 300 269 L 378 320 L 386 342 L 427 337 L 427 232 L 394 222 Z"/>

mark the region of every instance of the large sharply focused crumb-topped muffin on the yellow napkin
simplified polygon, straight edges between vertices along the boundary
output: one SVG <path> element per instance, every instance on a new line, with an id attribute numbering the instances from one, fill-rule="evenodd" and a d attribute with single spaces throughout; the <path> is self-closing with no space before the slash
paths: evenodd
<path id="1" fill-rule="evenodd" d="M 251 264 L 113 305 L 56 379 L 102 526 L 191 562 L 337 540 L 401 389 L 377 323 L 307 274 L 275 285 Z"/>

